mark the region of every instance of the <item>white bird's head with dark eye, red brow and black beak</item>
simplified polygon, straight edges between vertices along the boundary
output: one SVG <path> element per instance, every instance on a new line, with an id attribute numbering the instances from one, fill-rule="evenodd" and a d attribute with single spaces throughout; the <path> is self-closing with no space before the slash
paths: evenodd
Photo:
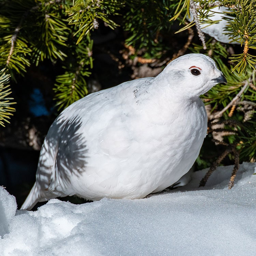
<path id="1" fill-rule="evenodd" d="M 227 83 L 215 62 L 203 54 L 183 55 L 171 61 L 159 76 L 175 94 L 185 97 L 199 97 L 214 85 Z"/>

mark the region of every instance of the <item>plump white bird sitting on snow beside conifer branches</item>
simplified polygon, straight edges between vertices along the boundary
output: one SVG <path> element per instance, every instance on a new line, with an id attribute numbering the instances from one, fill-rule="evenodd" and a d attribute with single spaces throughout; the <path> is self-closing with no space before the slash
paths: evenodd
<path id="1" fill-rule="evenodd" d="M 210 57 L 187 54 L 156 77 L 71 104 L 47 133 L 21 209 L 68 195 L 143 198 L 172 185 L 193 165 L 207 134 L 199 96 L 226 82 Z"/>

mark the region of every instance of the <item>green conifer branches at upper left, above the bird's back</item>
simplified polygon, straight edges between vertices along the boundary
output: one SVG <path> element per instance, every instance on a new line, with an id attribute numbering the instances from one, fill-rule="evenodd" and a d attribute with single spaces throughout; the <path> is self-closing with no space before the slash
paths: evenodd
<path id="1" fill-rule="evenodd" d="M 0 66 L 15 77 L 32 63 L 61 61 L 65 73 L 56 77 L 59 109 L 87 93 L 86 77 L 93 66 L 90 31 L 98 21 L 115 28 L 109 16 L 122 1 L 1 0 Z"/>

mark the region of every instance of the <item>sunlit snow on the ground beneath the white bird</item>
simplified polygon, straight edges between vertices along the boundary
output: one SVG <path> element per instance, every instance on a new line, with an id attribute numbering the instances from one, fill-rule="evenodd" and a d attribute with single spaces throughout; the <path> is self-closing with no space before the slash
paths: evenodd
<path id="1" fill-rule="evenodd" d="M 1 255 L 255 255 L 256 163 L 191 174 L 182 188 L 138 200 L 75 205 L 52 199 L 37 211 L 16 210 L 0 187 Z"/>

